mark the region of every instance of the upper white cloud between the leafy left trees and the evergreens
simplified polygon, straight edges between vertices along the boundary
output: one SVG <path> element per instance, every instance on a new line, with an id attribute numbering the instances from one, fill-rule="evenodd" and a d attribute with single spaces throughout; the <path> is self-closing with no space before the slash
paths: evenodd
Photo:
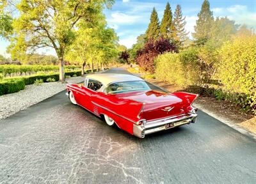
<path id="1" fill-rule="evenodd" d="M 125 13 L 115 12 L 111 13 L 111 18 L 108 18 L 110 24 L 133 24 L 140 19 L 138 15 L 128 15 Z"/>

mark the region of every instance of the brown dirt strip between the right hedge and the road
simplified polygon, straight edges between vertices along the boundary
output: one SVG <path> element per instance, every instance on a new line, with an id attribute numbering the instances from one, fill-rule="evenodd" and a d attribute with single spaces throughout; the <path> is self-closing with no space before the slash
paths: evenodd
<path id="1" fill-rule="evenodd" d="M 186 91 L 185 89 L 173 86 L 168 82 L 157 81 L 156 79 L 149 79 L 147 81 L 170 92 Z M 213 114 L 217 114 L 220 119 L 227 119 L 227 121 L 235 123 L 256 134 L 256 116 L 242 111 L 232 102 L 216 100 L 216 98 L 208 96 L 199 96 L 195 101 L 195 105 L 200 107 L 200 109 L 205 109 Z"/>

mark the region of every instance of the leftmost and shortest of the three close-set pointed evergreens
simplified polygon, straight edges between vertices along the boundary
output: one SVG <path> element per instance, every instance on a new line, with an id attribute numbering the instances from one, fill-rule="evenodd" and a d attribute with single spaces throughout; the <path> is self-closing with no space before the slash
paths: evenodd
<path id="1" fill-rule="evenodd" d="M 146 31 L 146 38 L 149 40 L 153 38 L 156 40 L 159 36 L 159 19 L 156 12 L 156 8 L 153 8 L 153 11 L 150 16 L 150 23 L 148 24 L 148 29 Z"/>

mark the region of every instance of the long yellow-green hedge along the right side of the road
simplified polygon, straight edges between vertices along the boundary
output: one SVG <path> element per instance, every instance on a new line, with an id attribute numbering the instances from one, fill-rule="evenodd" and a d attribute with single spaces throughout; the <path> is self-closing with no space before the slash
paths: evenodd
<path id="1" fill-rule="evenodd" d="M 237 36 L 215 50 L 210 46 L 157 56 L 156 79 L 199 86 L 200 94 L 230 100 L 256 114 L 256 36 Z M 216 88 L 205 87 L 205 83 Z"/>

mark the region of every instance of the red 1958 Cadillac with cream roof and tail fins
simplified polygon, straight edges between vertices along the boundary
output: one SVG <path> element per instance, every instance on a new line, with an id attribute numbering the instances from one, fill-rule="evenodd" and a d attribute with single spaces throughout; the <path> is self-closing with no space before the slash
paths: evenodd
<path id="1" fill-rule="evenodd" d="M 134 75 L 87 75 L 84 84 L 67 84 L 66 95 L 72 104 L 104 118 L 109 126 L 116 124 L 140 138 L 196 122 L 192 103 L 198 95 L 154 91 Z"/>

